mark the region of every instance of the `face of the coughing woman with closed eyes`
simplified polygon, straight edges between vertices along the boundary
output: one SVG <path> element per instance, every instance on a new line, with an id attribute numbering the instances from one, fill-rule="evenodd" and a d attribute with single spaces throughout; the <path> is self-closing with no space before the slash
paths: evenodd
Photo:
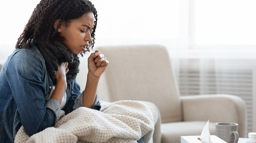
<path id="1" fill-rule="evenodd" d="M 71 20 L 68 26 L 64 22 L 58 30 L 59 35 L 65 37 L 61 44 L 73 54 L 85 52 L 85 47 L 89 46 L 89 41 L 92 41 L 91 31 L 93 26 L 94 14 L 92 12 Z"/>

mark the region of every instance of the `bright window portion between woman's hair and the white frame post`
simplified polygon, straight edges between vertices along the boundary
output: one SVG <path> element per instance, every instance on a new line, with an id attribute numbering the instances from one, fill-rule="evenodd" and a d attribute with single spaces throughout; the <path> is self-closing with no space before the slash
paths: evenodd
<path id="1" fill-rule="evenodd" d="M 136 44 L 134 40 L 138 43 L 147 40 L 148 44 L 157 44 L 157 40 L 180 37 L 180 0 L 92 0 L 92 3 L 98 12 L 98 42 Z"/>

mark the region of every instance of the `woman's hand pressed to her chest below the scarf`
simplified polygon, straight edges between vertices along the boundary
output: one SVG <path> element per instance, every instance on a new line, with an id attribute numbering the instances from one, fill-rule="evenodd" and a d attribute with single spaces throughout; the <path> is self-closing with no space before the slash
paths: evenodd
<path id="1" fill-rule="evenodd" d="M 65 63 L 59 63 L 59 69 L 56 71 L 56 83 L 58 81 L 60 82 L 67 82 L 66 80 L 66 74 L 68 73 L 68 62 Z"/>

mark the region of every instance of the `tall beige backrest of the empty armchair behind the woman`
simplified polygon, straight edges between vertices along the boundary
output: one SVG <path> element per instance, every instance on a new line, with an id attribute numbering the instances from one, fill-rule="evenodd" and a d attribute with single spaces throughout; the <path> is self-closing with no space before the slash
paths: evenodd
<path id="1" fill-rule="evenodd" d="M 181 121 L 179 92 L 165 47 L 127 45 L 95 49 L 109 61 L 99 81 L 99 99 L 152 102 L 160 110 L 162 123 Z"/>

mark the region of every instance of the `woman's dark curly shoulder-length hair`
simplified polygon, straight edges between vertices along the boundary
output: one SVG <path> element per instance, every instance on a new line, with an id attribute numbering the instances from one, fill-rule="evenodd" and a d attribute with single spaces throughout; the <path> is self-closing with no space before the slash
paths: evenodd
<path id="1" fill-rule="evenodd" d="M 43 44 L 47 44 L 49 41 L 60 44 L 61 41 L 65 40 L 65 37 L 61 37 L 57 32 L 62 22 L 64 21 L 68 25 L 70 20 L 77 19 L 89 12 L 93 12 L 95 17 L 91 32 L 92 41 L 86 47 L 87 51 L 90 51 L 90 48 L 93 48 L 95 44 L 97 11 L 88 0 L 41 0 L 24 27 L 23 33 L 18 38 L 15 48 L 28 48 L 33 38 L 40 40 Z M 57 28 L 54 29 L 53 24 L 57 19 L 60 21 Z"/>

